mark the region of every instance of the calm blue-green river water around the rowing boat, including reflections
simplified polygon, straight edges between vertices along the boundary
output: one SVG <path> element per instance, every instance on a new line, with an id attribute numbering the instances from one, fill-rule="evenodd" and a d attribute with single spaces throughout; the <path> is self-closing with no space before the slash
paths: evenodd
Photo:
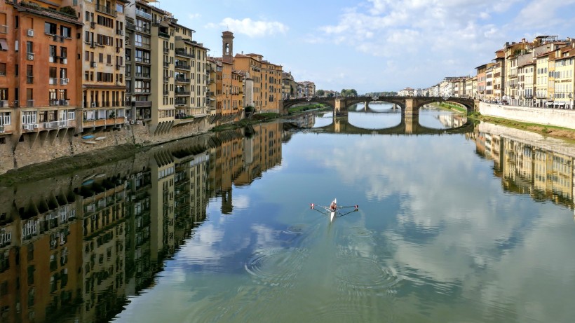
<path id="1" fill-rule="evenodd" d="M 438 110 L 417 124 L 445 133 L 375 133 L 402 121 L 358 106 L 4 189 L 1 322 L 572 322 L 575 146 Z"/>

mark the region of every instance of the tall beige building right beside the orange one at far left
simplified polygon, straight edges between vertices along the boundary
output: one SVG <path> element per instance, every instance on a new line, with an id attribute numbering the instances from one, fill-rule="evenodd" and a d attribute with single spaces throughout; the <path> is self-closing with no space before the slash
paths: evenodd
<path id="1" fill-rule="evenodd" d="M 128 1 L 74 1 L 83 22 L 81 42 L 82 129 L 121 128 L 126 123 L 124 62 Z"/>

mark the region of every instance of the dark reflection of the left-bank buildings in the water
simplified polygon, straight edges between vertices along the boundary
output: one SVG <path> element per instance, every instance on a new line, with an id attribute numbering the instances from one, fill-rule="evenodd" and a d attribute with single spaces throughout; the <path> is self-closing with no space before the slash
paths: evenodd
<path id="1" fill-rule="evenodd" d="M 179 140 L 0 192 L 0 322 L 107 322 L 152 287 L 208 200 L 281 163 L 283 125 Z"/>

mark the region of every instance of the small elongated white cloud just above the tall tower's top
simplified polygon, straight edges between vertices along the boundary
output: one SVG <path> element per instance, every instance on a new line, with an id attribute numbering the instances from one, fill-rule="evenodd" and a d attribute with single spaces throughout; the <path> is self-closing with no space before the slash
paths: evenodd
<path id="1" fill-rule="evenodd" d="M 206 25 L 208 28 L 224 27 L 230 32 L 245 34 L 250 37 L 263 37 L 275 34 L 285 34 L 288 32 L 289 27 L 277 21 L 255 21 L 250 18 L 243 20 L 224 18 L 219 24 L 210 23 Z"/>

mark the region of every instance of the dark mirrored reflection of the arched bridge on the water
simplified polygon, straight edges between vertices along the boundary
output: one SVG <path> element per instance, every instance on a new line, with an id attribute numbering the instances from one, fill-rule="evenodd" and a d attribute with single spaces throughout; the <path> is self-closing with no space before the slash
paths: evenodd
<path id="1" fill-rule="evenodd" d="M 458 128 L 434 129 L 419 124 L 419 115 L 401 114 L 401 122 L 391 128 L 365 129 L 349 123 L 348 118 L 333 118 L 333 123 L 324 127 L 312 128 L 312 132 L 334 132 L 351 135 L 441 135 L 473 132 L 474 125 L 467 121 Z"/>

